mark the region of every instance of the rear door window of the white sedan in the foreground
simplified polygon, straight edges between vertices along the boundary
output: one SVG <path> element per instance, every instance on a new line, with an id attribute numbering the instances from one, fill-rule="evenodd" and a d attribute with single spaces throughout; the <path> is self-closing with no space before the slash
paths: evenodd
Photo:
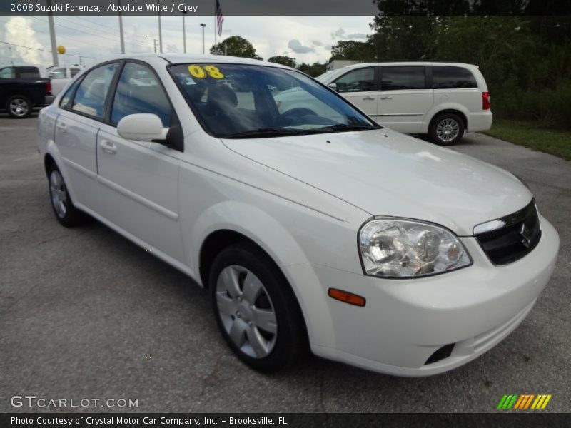
<path id="1" fill-rule="evenodd" d="M 103 118 L 105 98 L 116 69 L 117 64 L 111 63 L 89 71 L 77 88 L 71 110 Z"/>

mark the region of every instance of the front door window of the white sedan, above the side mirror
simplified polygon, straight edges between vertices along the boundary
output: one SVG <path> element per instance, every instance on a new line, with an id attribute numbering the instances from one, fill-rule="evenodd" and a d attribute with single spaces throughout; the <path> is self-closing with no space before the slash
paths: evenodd
<path id="1" fill-rule="evenodd" d="M 172 108 L 155 74 L 148 66 L 126 63 L 113 98 L 111 122 L 135 113 L 156 114 L 165 127 L 171 123 Z"/>

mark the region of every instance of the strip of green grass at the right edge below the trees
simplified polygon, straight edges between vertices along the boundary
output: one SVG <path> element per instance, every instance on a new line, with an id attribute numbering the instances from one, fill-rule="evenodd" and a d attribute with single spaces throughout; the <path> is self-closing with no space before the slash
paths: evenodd
<path id="1" fill-rule="evenodd" d="M 545 128 L 537 122 L 494 118 L 492 128 L 483 133 L 571 161 L 571 131 Z"/>

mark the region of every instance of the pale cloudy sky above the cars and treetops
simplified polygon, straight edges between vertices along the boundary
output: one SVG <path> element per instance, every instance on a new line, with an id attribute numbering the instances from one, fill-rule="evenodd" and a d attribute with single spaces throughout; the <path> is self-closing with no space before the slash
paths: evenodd
<path id="1" fill-rule="evenodd" d="M 186 51 L 202 53 L 202 27 L 206 53 L 214 44 L 213 16 L 186 16 Z M 259 56 L 283 55 L 297 63 L 325 63 L 331 46 L 340 40 L 364 41 L 373 16 L 224 16 L 223 34 L 242 36 Z M 89 65 L 121 53 L 118 16 L 55 16 L 56 44 L 66 48 L 60 66 Z M 182 16 L 161 16 L 163 52 L 183 52 Z M 157 16 L 123 16 L 127 53 L 152 52 L 158 39 Z M 52 65 L 46 16 L 0 16 L 0 64 L 41 63 Z M 21 45 L 26 47 L 19 47 Z M 35 48 L 35 49 L 29 49 Z M 45 51 L 44 51 L 45 50 Z M 89 58 L 92 57 L 92 58 Z"/>

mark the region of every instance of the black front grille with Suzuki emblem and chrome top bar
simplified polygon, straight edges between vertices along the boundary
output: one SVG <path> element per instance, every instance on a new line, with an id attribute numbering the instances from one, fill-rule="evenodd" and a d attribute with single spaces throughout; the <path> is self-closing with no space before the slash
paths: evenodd
<path id="1" fill-rule="evenodd" d="M 493 230 L 485 230 L 490 225 Z M 478 230 L 482 232 L 477 233 Z M 522 210 L 474 228 L 475 238 L 495 265 L 520 260 L 540 242 L 541 227 L 535 200 Z"/>

